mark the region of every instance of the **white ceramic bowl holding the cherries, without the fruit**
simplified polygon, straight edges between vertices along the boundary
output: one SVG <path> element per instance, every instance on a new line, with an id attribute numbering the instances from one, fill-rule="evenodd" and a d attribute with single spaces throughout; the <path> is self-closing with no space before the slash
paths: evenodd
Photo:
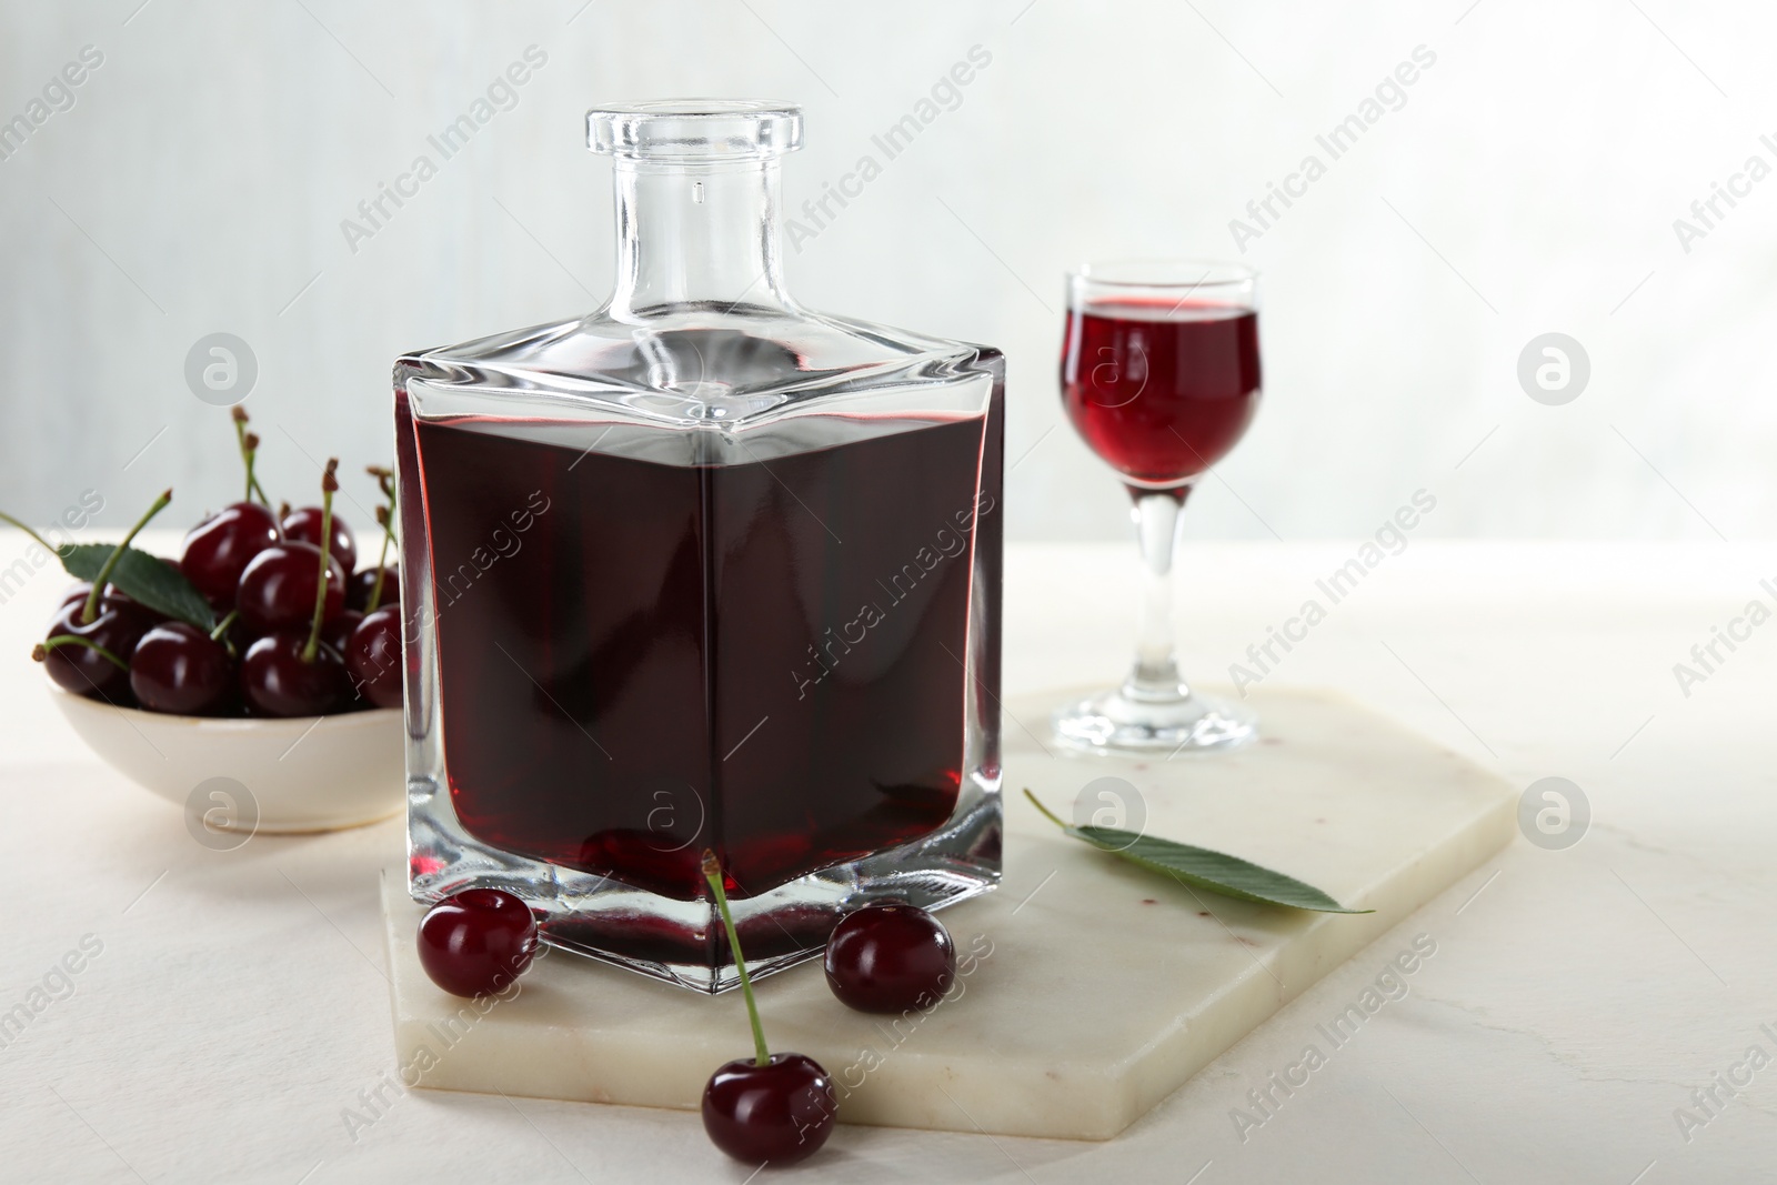
<path id="1" fill-rule="evenodd" d="M 394 707 L 210 720 L 112 707 L 60 688 L 52 695 L 105 764 L 211 830 L 331 831 L 387 819 L 405 801 Z"/>

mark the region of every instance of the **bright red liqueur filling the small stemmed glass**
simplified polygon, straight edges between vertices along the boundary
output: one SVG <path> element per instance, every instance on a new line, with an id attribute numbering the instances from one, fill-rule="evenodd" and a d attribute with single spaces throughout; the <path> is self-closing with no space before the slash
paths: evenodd
<path id="1" fill-rule="evenodd" d="M 1258 409 L 1258 387 L 1256 313 L 1171 300 L 1068 313 L 1068 418 L 1136 485 L 1180 485 L 1226 457 Z"/>

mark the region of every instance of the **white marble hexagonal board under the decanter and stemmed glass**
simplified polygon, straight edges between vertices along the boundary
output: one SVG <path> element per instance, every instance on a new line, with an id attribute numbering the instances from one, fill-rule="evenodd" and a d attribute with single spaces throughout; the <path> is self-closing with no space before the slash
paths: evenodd
<path id="1" fill-rule="evenodd" d="M 1008 704 L 1006 879 L 942 913 L 967 966 L 951 1000 L 899 1023 L 853 1013 L 817 961 L 759 984 L 773 1048 L 826 1066 L 842 1121 L 1111 1139 L 1516 831 L 1502 778 L 1333 693 L 1253 693 L 1258 744 L 1151 762 L 1063 757 L 1041 730 L 1063 698 Z M 1022 796 L 1066 815 L 1102 776 L 1137 787 L 1150 833 L 1375 913 L 1194 894 L 1066 839 Z M 695 1109 L 709 1073 L 752 1050 L 739 993 L 562 952 L 508 1002 L 458 1000 L 419 968 L 400 869 L 384 908 L 396 1068 L 419 1086 Z"/>

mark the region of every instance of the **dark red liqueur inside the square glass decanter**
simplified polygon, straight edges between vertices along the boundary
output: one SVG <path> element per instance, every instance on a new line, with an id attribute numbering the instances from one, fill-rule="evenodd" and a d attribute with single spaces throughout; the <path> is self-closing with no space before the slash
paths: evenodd
<path id="1" fill-rule="evenodd" d="M 942 826 L 983 421 L 739 465 L 567 428 L 414 425 L 464 828 L 693 899 L 705 846 L 752 895 Z"/>

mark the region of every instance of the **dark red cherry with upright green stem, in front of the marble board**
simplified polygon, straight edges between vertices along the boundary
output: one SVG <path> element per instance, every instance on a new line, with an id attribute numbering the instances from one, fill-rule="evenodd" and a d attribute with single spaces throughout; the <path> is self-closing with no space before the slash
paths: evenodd
<path id="1" fill-rule="evenodd" d="M 704 1087 L 704 1130 L 736 1160 L 794 1164 L 819 1151 L 833 1133 L 833 1082 L 801 1054 L 773 1054 L 761 1066 L 741 1057 L 711 1075 Z"/>

